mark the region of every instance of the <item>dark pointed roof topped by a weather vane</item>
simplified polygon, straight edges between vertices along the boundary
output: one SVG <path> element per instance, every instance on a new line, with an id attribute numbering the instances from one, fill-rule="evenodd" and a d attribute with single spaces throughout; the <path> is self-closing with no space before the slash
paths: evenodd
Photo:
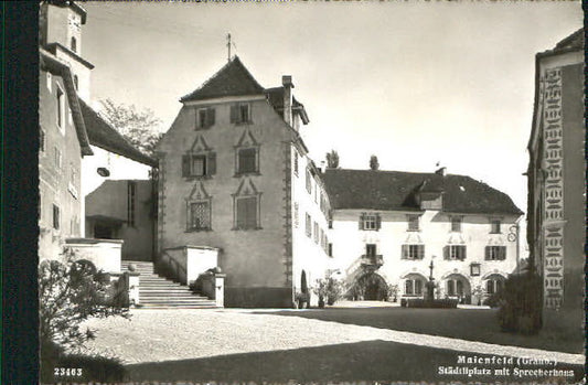
<path id="1" fill-rule="evenodd" d="M 180 101 L 204 100 L 224 96 L 263 95 L 265 88 L 257 83 L 238 56 L 225 64 L 194 92 Z"/>

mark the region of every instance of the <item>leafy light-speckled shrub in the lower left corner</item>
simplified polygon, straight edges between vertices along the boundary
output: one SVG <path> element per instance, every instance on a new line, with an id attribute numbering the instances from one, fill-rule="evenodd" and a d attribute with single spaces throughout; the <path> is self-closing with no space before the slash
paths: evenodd
<path id="1" fill-rule="evenodd" d="M 88 263 L 75 260 L 70 248 L 64 249 L 65 261 L 43 260 L 39 265 L 39 338 L 41 371 L 53 375 L 56 360 L 64 350 L 76 350 L 95 336 L 90 329 L 82 330 L 88 318 L 121 316 L 128 309 L 107 300 L 109 277 L 96 271 Z"/>

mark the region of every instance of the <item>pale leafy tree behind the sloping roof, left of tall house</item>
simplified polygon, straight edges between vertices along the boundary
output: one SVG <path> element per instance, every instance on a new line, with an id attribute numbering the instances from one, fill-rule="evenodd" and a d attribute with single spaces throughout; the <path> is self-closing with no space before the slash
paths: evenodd
<path id="1" fill-rule="evenodd" d="M 147 156 L 153 156 L 163 133 L 159 128 L 162 121 L 150 109 L 137 110 L 133 105 L 116 104 L 111 99 L 100 100 L 100 114 L 132 146 Z"/>

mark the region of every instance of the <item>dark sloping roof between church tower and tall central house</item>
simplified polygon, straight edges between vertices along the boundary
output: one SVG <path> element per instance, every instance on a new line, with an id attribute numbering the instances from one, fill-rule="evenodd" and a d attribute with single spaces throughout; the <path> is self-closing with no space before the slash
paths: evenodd
<path id="1" fill-rule="evenodd" d="M 84 116 L 90 145 L 140 163 L 157 165 L 154 159 L 136 149 L 122 135 L 104 120 L 98 113 L 84 103 L 84 100 L 79 99 L 79 106 L 82 107 L 82 115 Z"/>

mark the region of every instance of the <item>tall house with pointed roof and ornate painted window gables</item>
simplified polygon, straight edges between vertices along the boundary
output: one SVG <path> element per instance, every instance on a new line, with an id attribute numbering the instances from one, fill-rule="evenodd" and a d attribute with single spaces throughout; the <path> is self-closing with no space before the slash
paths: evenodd
<path id="1" fill-rule="evenodd" d="M 292 90 L 291 76 L 264 88 L 235 56 L 181 98 L 158 147 L 159 264 L 215 249 L 228 307 L 290 307 L 331 263 L 329 196 Z"/>

